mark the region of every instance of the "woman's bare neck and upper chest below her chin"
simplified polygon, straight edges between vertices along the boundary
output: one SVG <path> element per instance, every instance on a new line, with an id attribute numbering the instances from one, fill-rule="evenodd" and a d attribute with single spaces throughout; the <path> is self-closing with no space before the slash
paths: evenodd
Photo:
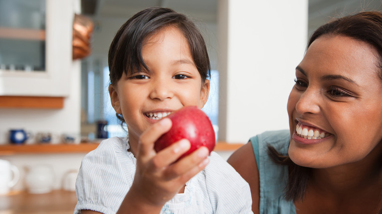
<path id="1" fill-rule="evenodd" d="M 312 169 L 297 214 L 377 213 L 382 209 L 382 144 L 364 159 L 327 169 Z M 314 212 L 313 212 L 314 211 Z"/>

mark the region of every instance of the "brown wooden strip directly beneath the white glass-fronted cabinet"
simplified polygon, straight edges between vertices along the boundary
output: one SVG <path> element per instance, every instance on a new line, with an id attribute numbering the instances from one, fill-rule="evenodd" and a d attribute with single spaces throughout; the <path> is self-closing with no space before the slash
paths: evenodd
<path id="1" fill-rule="evenodd" d="M 0 96 L 2 108 L 51 108 L 64 107 L 64 97 Z"/>

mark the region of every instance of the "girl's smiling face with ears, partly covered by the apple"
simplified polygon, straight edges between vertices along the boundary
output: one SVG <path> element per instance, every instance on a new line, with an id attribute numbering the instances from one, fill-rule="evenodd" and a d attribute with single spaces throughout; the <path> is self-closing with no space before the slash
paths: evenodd
<path id="1" fill-rule="evenodd" d="M 167 27 L 143 44 L 142 56 L 149 73 L 122 75 L 109 87 L 112 106 L 126 121 L 130 143 L 158 119 L 185 106 L 202 108 L 210 82 L 202 83 L 186 38 Z"/>

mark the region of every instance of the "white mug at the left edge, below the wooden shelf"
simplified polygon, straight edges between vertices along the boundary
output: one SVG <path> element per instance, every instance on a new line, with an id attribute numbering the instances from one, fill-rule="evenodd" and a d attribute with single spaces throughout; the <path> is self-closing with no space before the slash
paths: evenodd
<path id="1" fill-rule="evenodd" d="M 7 160 L 0 160 L 0 194 L 9 193 L 20 178 L 20 171 Z"/>

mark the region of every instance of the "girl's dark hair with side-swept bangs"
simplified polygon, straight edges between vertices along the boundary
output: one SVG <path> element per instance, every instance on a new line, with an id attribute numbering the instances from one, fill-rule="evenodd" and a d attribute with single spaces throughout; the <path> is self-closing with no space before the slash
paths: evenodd
<path id="1" fill-rule="evenodd" d="M 123 72 L 130 74 L 137 70 L 148 71 L 142 57 L 144 42 L 151 35 L 168 26 L 174 26 L 183 33 L 202 81 L 210 77 L 211 64 L 207 47 L 193 21 L 170 8 L 151 7 L 127 20 L 119 28 L 110 44 L 108 63 L 112 86 L 117 84 Z M 125 122 L 122 115 L 117 114 L 117 117 L 122 123 Z"/>

